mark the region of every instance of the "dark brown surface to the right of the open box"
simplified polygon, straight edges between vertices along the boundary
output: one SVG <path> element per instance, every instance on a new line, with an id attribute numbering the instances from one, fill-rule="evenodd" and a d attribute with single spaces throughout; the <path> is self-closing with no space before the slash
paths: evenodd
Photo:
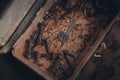
<path id="1" fill-rule="evenodd" d="M 120 80 L 120 20 L 105 37 L 107 49 L 101 58 L 92 58 L 77 80 Z"/>

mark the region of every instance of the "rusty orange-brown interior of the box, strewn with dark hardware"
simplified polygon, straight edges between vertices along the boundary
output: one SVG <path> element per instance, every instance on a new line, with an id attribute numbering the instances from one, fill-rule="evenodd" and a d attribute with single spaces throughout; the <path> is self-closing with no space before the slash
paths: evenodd
<path id="1" fill-rule="evenodd" d="M 99 0 L 96 3 L 94 0 L 67 1 L 58 0 L 47 12 L 39 12 L 40 15 L 18 39 L 13 51 L 27 65 L 59 80 L 72 76 L 116 13 L 116 9 L 110 7 L 113 4 L 109 0 L 100 3 Z M 65 33 L 71 25 L 68 39 L 64 41 L 66 37 L 60 32 Z M 35 37 L 36 33 L 40 35 L 38 38 Z"/>

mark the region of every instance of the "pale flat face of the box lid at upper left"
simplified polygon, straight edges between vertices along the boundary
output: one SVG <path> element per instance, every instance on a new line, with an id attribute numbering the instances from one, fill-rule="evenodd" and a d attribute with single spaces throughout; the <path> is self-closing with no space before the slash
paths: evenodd
<path id="1" fill-rule="evenodd" d="M 35 0 L 10 0 L 9 3 L 5 1 L 1 1 L 5 7 L 0 16 L 0 46 L 7 43 L 35 2 Z"/>

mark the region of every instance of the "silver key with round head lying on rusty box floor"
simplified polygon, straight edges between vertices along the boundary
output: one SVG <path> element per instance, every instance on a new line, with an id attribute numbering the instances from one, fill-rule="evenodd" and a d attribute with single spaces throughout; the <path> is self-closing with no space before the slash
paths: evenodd
<path id="1" fill-rule="evenodd" d="M 70 25 L 68 26 L 68 28 L 65 31 L 61 31 L 58 33 L 58 35 L 57 35 L 58 40 L 63 43 L 67 42 L 69 40 L 69 33 L 75 25 L 76 25 L 76 20 L 72 20 Z"/>

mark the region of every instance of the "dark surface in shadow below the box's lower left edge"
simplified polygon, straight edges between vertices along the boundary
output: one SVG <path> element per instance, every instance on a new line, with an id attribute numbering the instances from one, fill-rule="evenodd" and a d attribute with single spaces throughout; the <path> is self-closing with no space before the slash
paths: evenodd
<path id="1" fill-rule="evenodd" d="M 0 55 L 0 80 L 45 80 L 15 59 L 9 52 Z"/>

